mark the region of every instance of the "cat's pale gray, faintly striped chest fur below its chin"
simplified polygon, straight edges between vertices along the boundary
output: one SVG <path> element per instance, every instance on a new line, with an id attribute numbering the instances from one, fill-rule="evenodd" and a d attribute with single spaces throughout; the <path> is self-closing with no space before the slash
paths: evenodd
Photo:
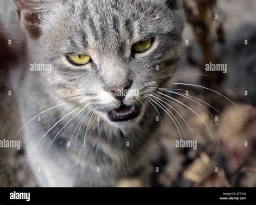
<path id="1" fill-rule="evenodd" d="M 26 129 L 25 140 L 38 134 L 42 137 L 49 130 L 36 124 L 32 123 Z M 115 186 L 120 178 L 145 173 L 148 162 L 146 152 L 150 146 L 150 139 L 147 139 L 149 133 L 118 135 L 115 131 L 104 130 L 109 128 L 91 128 L 85 136 L 86 126 L 83 125 L 78 137 L 75 139 L 74 135 L 70 142 L 75 128 L 59 133 L 55 138 L 57 130 L 64 125 L 60 123 L 56 131 L 49 132 L 40 144 L 37 145 L 39 137 L 26 144 L 29 164 L 40 186 Z M 134 140 L 134 137 L 137 139 Z"/>

